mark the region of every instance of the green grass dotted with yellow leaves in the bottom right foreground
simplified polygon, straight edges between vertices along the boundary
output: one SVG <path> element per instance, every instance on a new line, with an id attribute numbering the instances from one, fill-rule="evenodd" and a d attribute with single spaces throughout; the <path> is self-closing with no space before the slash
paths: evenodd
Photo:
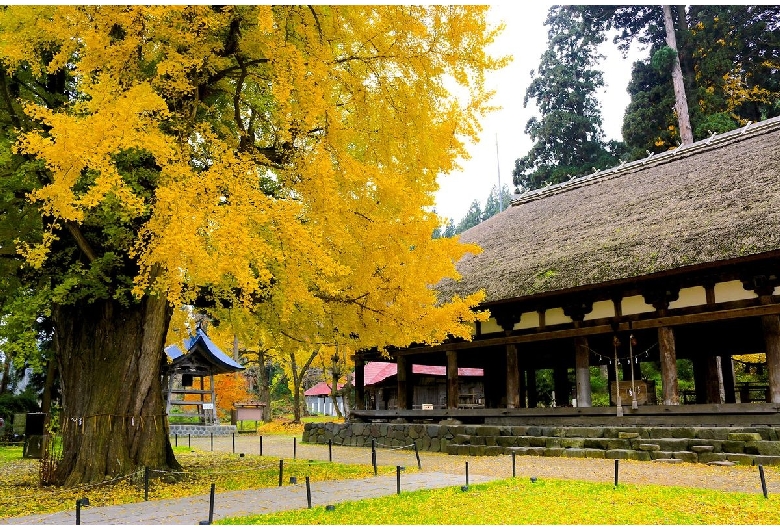
<path id="1" fill-rule="evenodd" d="M 218 524 L 283 525 L 473 525 L 473 524 L 777 524 L 780 497 L 713 490 L 544 479 L 507 479 L 460 487 L 402 493 Z"/>

